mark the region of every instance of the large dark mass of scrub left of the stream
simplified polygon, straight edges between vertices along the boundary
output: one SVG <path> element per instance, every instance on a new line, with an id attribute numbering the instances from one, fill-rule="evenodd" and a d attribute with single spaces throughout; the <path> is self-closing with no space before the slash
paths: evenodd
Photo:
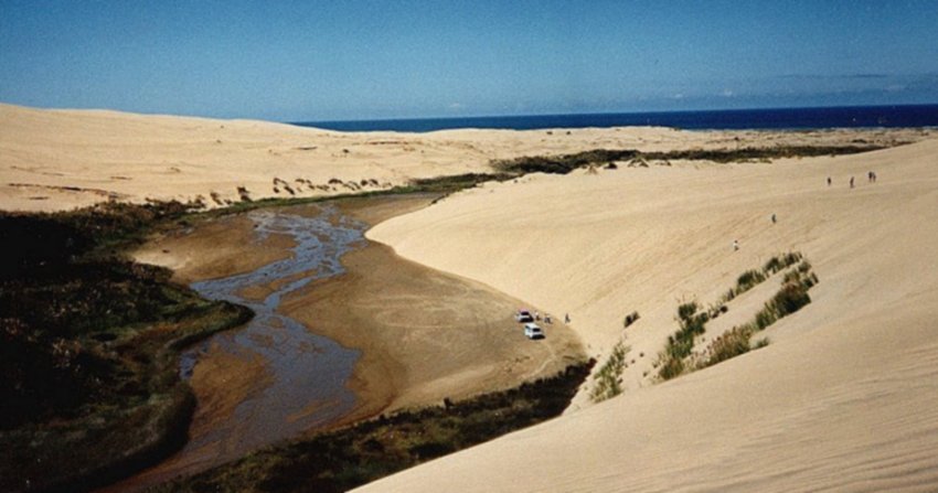
<path id="1" fill-rule="evenodd" d="M 194 401 L 180 349 L 251 312 L 119 251 L 189 210 L 0 214 L 0 448 L 15 451 L 0 490 L 94 487 L 184 443 Z"/>

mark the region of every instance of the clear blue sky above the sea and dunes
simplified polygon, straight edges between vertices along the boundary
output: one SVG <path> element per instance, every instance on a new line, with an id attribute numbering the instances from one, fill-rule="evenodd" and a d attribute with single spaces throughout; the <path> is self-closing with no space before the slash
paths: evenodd
<path id="1" fill-rule="evenodd" d="M 938 0 L 0 0 L 0 101 L 281 121 L 938 103 Z"/>

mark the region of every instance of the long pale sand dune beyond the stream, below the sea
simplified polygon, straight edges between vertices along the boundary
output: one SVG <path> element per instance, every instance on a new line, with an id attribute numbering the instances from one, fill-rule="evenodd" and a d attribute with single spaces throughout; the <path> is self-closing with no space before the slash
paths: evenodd
<path id="1" fill-rule="evenodd" d="M 863 136 L 881 142 L 921 138 L 915 131 Z M 238 187 L 252 199 L 350 193 L 414 178 L 486 172 L 491 159 L 525 154 L 832 140 L 852 139 L 841 131 L 766 135 L 664 128 L 342 133 L 264 121 L 0 104 L 0 206 L 54 211 L 110 199 L 201 196 L 214 207 L 239 201 Z"/>

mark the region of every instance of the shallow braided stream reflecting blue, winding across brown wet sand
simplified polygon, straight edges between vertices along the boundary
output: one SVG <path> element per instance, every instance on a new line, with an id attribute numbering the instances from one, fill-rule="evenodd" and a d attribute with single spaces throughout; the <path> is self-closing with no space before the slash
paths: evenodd
<path id="1" fill-rule="evenodd" d="M 211 432 L 193 440 L 186 449 L 216 442 L 220 456 L 239 457 L 260 446 L 342 418 L 355 404 L 345 386 L 359 352 L 311 333 L 298 321 L 278 313 L 280 300 L 309 282 L 343 272 L 341 256 L 364 242 L 365 225 L 323 207 L 316 217 L 283 212 L 256 211 L 257 240 L 269 235 L 289 235 L 296 246 L 289 258 L 251 272 L 194 282 L 205 298 L 249 307 L 254 319 L 243 329 L 220 333 L 183 353 L 181 372 L 191 376 L 200 355 L 224 351 L 237 356 L 259 356 L 267 371 L 267 386 L 253 392 Z M 263 301 L 241 292 L 254 286 L 269 287 Z M 256 355 L 256 356 L 255 356 Z"/>

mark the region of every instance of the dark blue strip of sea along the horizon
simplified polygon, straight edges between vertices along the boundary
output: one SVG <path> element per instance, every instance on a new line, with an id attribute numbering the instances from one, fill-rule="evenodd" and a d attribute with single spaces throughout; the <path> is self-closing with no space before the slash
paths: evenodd
<path id="1" fill-rule="evenodd" d="M 375 130 L 428 132 L 455 128 L 535 130 L 628 126 L 672 127 L 684 130 L 938 127 L 938 105 L 302 121 L 292 125 L 353 132 Z"/>

